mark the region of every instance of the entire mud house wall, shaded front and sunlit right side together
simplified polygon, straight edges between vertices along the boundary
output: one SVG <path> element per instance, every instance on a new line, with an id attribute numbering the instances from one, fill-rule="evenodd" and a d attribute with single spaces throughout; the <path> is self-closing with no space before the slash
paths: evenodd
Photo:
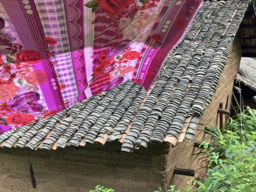
<path id="1" fill-rule="evenodd" d="M 227 65 L 212 103 L 201 120 L 204 124 L 217 124 L 219 103 L 231 102 L 233 79 L 241 59 L 240 43 L 236 39 L 229 52 Z M 203 129 L 199 126 L 198 129 Z M 197 141 L 203 140 L 202 132 Z M 172 184 L 186 186 L 193 179 L 173 175 L 175 167 L 197 169 L 201 163 L 193 154 L 194 142 L 186 140 L 176 147 L 150 144 L 134 154 L 120 152 L 120 143 L 67 147 L 56 151 L 31 151 L 27 148 L 0 148 L 0 191 L 84 191 L 101 184 L 117 192 L 148 191 Z M 36 188 L 32 188 L 29 165 L 32 165 Z M 199 170 L 200 171 L 200 170 Z M 199 176 L 199 173 L 196 173 Z"/>

